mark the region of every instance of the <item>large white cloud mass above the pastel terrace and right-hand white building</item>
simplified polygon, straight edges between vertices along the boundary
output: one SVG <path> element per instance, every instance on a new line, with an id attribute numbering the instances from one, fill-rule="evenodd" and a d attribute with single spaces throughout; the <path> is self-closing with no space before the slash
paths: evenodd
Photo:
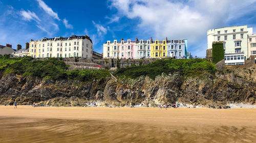
<path id="1" fill-rule="evenodd" d="M 230 20 L 239 20 L 246 13 L 255 11 L 255 2 L 256 0 L 248 0 L 246 3 L 239 0 L 110 0 L 109 8 L 117 10 L 114 16 L 139 18 L 139 24 L 134 28 L 138 29 L 141 37 L 140 34 L 147 31 L 146 37 L 152 36 L 159 40 L 165 37 L 188 39 L 188 43 L 195 45 L 202 43 L 202 39 L 205 40 L 207 30 L 226 26 Z"/>

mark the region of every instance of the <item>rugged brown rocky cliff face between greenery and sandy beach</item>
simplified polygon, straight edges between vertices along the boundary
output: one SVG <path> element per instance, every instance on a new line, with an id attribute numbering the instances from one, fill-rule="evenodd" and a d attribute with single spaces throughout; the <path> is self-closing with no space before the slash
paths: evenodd
<path id="1" fill-rule="evenodd" d="M 122 83 L 123 82 L 123 83 Z M 138 79 L 110 78 L 92 82 L 38 79 L 14 74 L 0 80 L 0 104 L 88 106 L 158 106 L 182 103 L 189 106 L 219 107 L 228 103 L 256 104 L 256 83 L 221 72 L 182 77 L 179 73 Z"/>

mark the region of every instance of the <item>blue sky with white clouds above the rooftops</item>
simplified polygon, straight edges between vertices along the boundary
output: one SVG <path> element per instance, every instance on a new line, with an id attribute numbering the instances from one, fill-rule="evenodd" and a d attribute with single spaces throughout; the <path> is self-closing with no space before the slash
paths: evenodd
<path id="1" fill-rule="evenodd" d="M 187 39 L 205 56 L 207 30 L 248 25 L 256 34 L 256 0 L 0 0 L 0 45 L 25 48 L 31 39 L 88 35 L 93 50 L 131 39 Z"/>

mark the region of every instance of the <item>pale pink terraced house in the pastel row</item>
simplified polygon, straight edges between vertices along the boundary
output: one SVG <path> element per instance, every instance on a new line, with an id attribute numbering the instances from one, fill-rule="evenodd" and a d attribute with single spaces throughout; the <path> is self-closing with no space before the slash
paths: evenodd
<path id="1" fill-rule="evenodd" d="M 120 58 L 121 59 L 134 59 L 135 53 L 135 41 L 131 41 L 131 39 L 127 40 L 126 42 L 122 39 L 120 43 Z"/>

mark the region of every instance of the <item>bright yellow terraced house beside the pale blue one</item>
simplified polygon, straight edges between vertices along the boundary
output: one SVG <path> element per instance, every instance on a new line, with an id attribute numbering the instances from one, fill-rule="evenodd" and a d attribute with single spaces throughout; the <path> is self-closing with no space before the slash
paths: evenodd
<path id="1" fill-rule="evenodd" d="M 165 58 L 167 56 L 167 40 L 153 41 L 151 44 L 152 58 Z"/>

